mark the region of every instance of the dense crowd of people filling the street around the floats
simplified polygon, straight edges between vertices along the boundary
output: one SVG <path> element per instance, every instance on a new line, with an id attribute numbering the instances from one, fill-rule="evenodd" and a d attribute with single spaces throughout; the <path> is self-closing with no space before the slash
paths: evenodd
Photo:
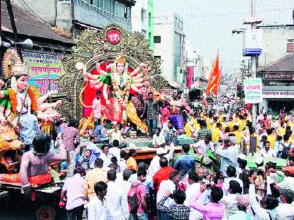
<path id="1" fill-rule="evenodd" d="M 90 220 L 294 218 L 292 114 L 281 111 L 274 117 L 261 109 L 253 127 L 245 108 L 228 114 L 183 111 L 181 131 L 169 121 L 169 108 L 148 94 L 149 147 L 156 148 L 150 164 L 137 161 L 137 149 L 127 147 L 130 131 L 139 132 L 101 119 L 99 108 L 93 110 L 95 126 L 78 158 L 78 122 L 58 124 L 57 138 L 67 152 L 60 206 L 68 219 L 82 219 L 84 210 Z M 195 143 L 181 145 L 175 154 L 178 135 Z M 255 168 L 248 167 L 249 158 Z M 283 168 L 273 158 L 284 159 Z"/>

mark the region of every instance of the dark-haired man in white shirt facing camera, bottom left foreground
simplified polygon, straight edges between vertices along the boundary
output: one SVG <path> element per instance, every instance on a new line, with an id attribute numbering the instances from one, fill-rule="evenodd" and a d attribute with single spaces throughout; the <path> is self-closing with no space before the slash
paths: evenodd
<path id="1" fill-rule="evenodd" d="M 90 203 L 87 205 L 87 219 L 96 220 L 106 220 L 106 193 L 107 184 L 105 182 L 97 182 L 94 184 L 94 191 L 97 196 L 95 196 Z"/>

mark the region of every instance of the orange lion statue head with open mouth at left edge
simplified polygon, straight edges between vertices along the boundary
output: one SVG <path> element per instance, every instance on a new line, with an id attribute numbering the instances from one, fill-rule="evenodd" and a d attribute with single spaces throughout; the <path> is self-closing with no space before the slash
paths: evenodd
<path id="1" fill-rule="evenodd" d="M 0 125 L 0 173 L 19 170 L 22 145 L 11 126 Z"/>

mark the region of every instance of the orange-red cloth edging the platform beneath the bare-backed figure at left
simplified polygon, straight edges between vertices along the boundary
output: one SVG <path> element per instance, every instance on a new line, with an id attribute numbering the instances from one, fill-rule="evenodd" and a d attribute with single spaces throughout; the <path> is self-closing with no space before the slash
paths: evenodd
<path id="1" fill-rule="evenodd" d="M 34 177 L 28 177 L 31 185 L 43 185 L 51 182 L 51 174 L 44 173 Z M 1 181 L 11 183 L 21 183 L 19 173 L 6 173 L 1 176 Z"/>

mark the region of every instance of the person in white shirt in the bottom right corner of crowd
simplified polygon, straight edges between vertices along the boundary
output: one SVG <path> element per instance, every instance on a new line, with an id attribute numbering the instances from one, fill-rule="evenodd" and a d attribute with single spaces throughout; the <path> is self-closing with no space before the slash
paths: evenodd
<path id="1" fill-rule="evenodd" d="M 276 219 L 292 220 L 294 217 L 294 205 L 292 204 L 294 192 L 290 189 L 281 189 L 280 199 L 282 203 L 276 207 Z"/>

